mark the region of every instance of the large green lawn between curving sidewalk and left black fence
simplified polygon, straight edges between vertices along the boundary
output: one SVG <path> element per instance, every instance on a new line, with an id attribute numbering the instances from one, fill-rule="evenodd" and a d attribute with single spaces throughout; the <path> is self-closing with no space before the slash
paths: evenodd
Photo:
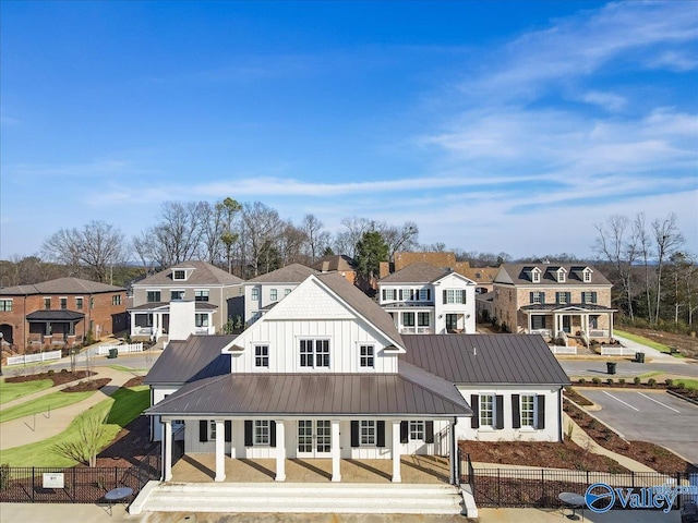
<path id="1" fill-rule="evenodd" d="M 75 461 L 56 453 L 53 446 L 75 439 L 82 417 L 107 416 L 107 430 L 101 440 L 101 448 L 104 448 L 113 440 L 122 427 L 135 419 L 149 405 L 149 401 L 151 393 L 146 386 L 119 389 L 110 398 L 75 417 L 73 423 L 58 436 L 0 451 L 0 463 L 8 463 L 10 466 L 73 466 Z"/>

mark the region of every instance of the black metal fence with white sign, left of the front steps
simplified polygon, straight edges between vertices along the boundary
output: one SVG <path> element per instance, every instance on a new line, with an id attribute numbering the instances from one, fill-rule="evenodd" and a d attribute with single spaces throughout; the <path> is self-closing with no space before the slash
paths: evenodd
<path id="1" fill-rule="evenodd" d="M 146 455 L 137 466 L 129 467 L 56 469 L 2 465 L 0 502 L 97 503 L 105 500 L 105 494 L 119 487 L 132 488 L 135 497 L 148 481 L 159 477 L 159 451 Z"/>

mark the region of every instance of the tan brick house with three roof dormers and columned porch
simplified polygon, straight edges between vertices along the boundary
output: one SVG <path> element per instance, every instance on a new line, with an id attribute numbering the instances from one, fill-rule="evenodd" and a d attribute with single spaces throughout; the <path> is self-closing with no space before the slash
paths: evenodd
<path id="1" fill-rule="evenodd" d="M 504 264 L 493 284 L 493 314 L 512 332 L 585 344 L 613 338 L 612 284 L 589 265 Z"/>

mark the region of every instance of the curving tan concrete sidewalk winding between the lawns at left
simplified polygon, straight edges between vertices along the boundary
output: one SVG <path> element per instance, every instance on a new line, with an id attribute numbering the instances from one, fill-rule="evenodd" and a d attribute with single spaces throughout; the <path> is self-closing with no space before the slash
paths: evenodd
<path id="1" fill-rule="evenodd" d="M 111 381 L 89 398 L 77 403 L 73 403 L 72 405 L 51 411 L 50 413 L 37 413 L 36 415 L 29 415 L 1 423 L 0 450 L 35 443 L 57 436 L 68 428 L 75 416 L 91 406 L 96 405 L 100 401 L 106 400 L 135 376 L 133 373 L 124 373 L 109 367 L 95 367 L 95 372 L 98 373 L 97 378 L 111 378 Z M 11 403 L 20 404 L 26 401 L 33 401 L 36 398 L 56 392 L 62 388 L 63 386 L 51 387 L 50 389 L 36 392 L 35 394 L 17 398 L 17 400 Z M 7 408 L 7 405 L 4 406 Z"/>

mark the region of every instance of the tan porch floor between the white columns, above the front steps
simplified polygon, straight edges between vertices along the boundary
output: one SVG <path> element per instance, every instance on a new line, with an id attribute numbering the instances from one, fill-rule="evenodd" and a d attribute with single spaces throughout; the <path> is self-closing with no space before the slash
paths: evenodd
<path id="1" fill-rule="evenodd" d="M 448 483 L 447 458 L 436 455 L 404 455 L 401 461 L 402 483 Z M 216 470 L 215 454 L 184 454 L 172 466 L 173 483 L 213 482 Z M 392 483 L 392 460 L 341 460 L 342 483 Z M 264 483 L 274 482 L 276 460 L 248 460 L 226 457 L 226 482 Z M 287 459 L 286 483 L 329 483 L 332 460 Z"/>

